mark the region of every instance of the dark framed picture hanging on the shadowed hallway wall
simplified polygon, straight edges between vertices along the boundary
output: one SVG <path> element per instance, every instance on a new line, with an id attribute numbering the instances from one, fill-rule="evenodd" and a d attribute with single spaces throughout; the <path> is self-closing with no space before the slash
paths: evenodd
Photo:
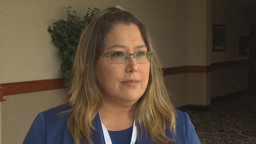
<path id="1" fill-rule="evenodd" d="M 225 51 L 226 25 L 213 24 L 213 51 Z"/>

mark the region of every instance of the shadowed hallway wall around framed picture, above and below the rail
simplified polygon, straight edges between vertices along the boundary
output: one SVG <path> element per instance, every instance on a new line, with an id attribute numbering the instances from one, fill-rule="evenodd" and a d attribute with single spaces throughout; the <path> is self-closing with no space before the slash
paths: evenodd
<path id="1" fill-rule="evenodd" d="M 244 9 L 248 16 L 244 17 Z M 211 51 L 211 63 L 248 59 L 239 54 L 239 36 L 249 35 L 249 25 L 256 24 L 256 1 L 212 0 L 213 24 L 226 25 L 225 51 Z M 213 27 L 213 26 L 212 26 Z M 217 69 L 211 72 L 211 97 L 248 89 L 248 67 Z"/>

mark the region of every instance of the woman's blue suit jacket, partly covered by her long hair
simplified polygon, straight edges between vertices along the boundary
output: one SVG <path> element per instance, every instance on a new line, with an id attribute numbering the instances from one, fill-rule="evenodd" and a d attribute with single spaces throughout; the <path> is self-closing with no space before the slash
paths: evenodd
<path id="1" fill-rule="evenodd" d="M 71 109 L 69 105 L 61 105 L 54 107 L 42 113 L 39 113 L 32 123 L 32 126 L 24 139 L 23 144 L 74 144 L 73 137 L 67 128 L 69 113 L 62 117 L 57 116 L 58 113 Z M 199 138 L 195 132 L 195 128 L 191 123 L 188 114 L 176 111 L 177 135 L 170 131 L 166 134 L 174 138 L 176 142 L 169 144 L 200 144 Z M 104 144 L 103 132 L 99 114 L 94 118 L 96 131 L 92 134 L 92 140 L 95 144 Z M 156 144 L 146 136 L 144 128 L 142 129 L 142 138 L 136 144 Z"/>

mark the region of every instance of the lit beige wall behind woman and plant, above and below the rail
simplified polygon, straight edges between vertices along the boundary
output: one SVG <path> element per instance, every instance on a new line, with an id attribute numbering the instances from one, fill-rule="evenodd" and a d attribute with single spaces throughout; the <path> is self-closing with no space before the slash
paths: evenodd
<path id="1" fill-rule="evenodd" d="M 103 9 L 121 5 L 136 14 L 149 28 L 158 47 L 163 68 L 209 65 L 210 0 L 4 0 L 0 5 L 0 83 L 62 77 L 58 49 L 48 26 L 65 19 L 63 7 L 83 16 L 88 7 Z M 210 73 L 164 76 L 175 106 L 209 102 Z M 2 143 L 21 143 L 36 114 L 58 104 L 65 90 L 4 96 Z M 15 137 L 15 139 L 13 138 Z"/>

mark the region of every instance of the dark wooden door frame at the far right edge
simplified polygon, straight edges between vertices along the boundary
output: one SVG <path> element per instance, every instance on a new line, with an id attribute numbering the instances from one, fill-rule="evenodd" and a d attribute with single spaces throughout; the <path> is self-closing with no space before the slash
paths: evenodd
<path id="1" fill-rule="evenodd" d="M 256 25 L 249 27 L 249 74 L 248 74 L 248 89 L 256 89 Z"/>

